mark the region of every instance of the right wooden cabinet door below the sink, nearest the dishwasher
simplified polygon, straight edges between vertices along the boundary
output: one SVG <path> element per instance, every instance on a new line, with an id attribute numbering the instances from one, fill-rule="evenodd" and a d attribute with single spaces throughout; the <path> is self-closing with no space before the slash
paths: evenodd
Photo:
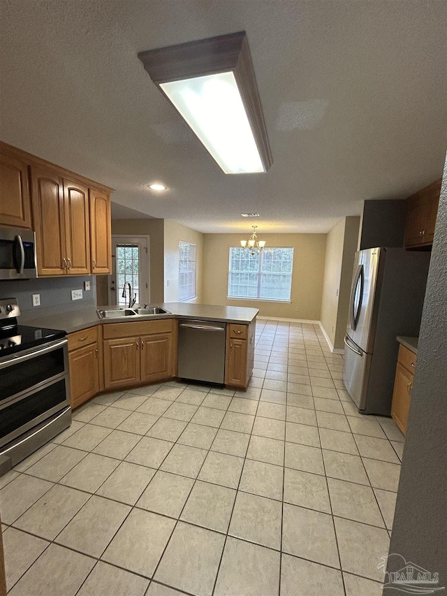
<path id="1" fill-rule="evenodd" d="M 172 333 L 140 337 L 141 382 L 149 383 L 174 376 L 174 344 Z"/>

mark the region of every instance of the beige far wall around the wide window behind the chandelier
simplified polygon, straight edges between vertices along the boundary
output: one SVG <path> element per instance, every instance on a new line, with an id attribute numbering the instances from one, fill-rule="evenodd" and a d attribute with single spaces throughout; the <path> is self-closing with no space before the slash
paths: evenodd
<path id="1" fill-rule="evenodd" d="M 228 300 L 230 247 L 240 246 L 241 234 L 205 234 L 203 303 L 258 308 L 265 317 L 320 318 L 325 262 L 325 234 L 263 234 L 270 247 L 293 247 L 291 304 L 263 300 Z"/>

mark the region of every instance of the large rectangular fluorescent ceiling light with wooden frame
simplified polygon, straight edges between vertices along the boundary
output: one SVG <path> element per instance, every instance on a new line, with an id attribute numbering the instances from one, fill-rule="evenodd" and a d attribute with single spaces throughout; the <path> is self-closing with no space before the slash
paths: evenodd
<path id="1" fill-rule="evenodd" d="M 272 155 L 244 31 L 138 57 L 226 174 L 270 168 Z"/>

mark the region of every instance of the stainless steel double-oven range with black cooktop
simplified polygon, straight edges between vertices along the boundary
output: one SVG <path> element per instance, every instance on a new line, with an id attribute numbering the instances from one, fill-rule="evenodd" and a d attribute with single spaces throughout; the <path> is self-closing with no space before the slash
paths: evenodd
<path id="1" fill-rule="evenodd" d="M 66 333 L 19 316 L 0 300 L 0 476 L 71 424 Z"/>

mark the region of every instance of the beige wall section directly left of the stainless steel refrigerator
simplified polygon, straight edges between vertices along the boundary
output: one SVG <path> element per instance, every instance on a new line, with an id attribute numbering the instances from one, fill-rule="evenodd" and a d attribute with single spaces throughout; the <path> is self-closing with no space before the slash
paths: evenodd
<path id="1" fill-rule="evenodd" d="M 345 217 L 328 233 L 320 320 L 332 347 L 343 349 L 360 217 Z"/>

